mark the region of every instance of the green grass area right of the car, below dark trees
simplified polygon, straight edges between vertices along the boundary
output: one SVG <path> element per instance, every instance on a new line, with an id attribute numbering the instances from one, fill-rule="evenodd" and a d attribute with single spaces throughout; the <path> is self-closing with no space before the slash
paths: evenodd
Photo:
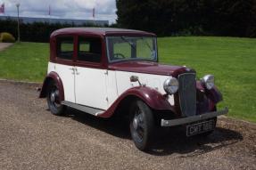
<path id="1" fill-rule="evenodd" d="M 256 122 L 256 39 L 233 37 L 159 38 L 160 61 L 186 65 L 197 77 L 215 76 L 228 115 Z"/>

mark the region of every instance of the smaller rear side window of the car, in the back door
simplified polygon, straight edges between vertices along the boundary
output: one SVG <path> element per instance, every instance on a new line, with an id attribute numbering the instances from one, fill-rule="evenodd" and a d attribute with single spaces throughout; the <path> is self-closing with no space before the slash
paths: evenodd
<path id="1" fill-rule="evenodd" d="M 57 37 L 57 58 L 63 60 L 72 60 L 74 53 L 74 38 Z"/>

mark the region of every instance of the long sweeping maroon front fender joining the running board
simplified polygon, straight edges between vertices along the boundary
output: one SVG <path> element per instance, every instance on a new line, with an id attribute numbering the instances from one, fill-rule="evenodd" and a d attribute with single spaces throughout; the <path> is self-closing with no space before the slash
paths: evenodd
<path id="1" fill-rule="evenodd" d="M 158 91 L 146 86 L 136 86 L 122 93 L 120 97 L 113 102 L 111 107 L 102 115 L 99 115 L 99 117 L 111 117 L 115 109 L 118 108 L 120 102 L 129 96 L 135 96 L 136 98 L 145 101 L 145 103 L 152 109 L 171 110 L 174 113 L 176 112 L 175 109 L 169 104 L 169 101 Z"/>

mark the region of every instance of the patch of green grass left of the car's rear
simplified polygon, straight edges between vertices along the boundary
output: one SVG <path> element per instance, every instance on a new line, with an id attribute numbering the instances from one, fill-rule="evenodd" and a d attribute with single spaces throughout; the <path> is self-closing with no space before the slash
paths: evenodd
<path id="1" fill-rule="evenodd" d="M 0 52 L 0 77 L 22 81 L 44 80 L 49 45 L 41 43 L 15 44 Z"/>

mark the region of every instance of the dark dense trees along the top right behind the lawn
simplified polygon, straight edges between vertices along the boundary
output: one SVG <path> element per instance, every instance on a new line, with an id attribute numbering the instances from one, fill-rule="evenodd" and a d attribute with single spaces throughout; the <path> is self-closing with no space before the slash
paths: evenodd
<path id="1" fill-rule="evenodd" d="M 121 28 L 159 36 L 256 37 L 255 0 L 116 0 Z"/>

